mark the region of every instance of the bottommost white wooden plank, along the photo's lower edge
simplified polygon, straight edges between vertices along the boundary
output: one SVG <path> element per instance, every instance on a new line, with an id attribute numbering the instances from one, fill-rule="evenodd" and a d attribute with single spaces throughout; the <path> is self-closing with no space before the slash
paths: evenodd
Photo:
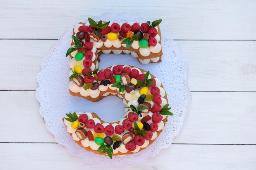
<path id="1" fill-rule="evenodd" d="M 98 170 L 101 168 L 98 164 L 83 162 L 80 157 L 71 155 L 59 144 L 0 144 L 0 149 L 1 169 L 55 170 L 60 167 L 65 169 L 86 167 L 86 169 Z M 255 153 L 255 145 L 171 145 L 170 148 L 161 150 L 157 157 L 147 159 L 144 164 L 125 166 L 122 170 L 249 170 L 255 168 Z M 120 167 L 109 168 L 120 169 Z"/>

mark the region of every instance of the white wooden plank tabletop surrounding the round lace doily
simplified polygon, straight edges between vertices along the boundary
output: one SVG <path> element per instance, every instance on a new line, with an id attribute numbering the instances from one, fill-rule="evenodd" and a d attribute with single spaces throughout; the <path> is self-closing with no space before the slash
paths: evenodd
<path id="1" fill-rule="evenodd" d="M 161 28 L 173 34 L 190 66 L 192 104 L 173 145 L 121 169 L 256 170 L 256 1 L 146 2 L 1 0 L 1 170 L 100 168 L 55 143 L 35 90 L 40 62 L 62 32 L 104 12 L 163 19 Z"/>

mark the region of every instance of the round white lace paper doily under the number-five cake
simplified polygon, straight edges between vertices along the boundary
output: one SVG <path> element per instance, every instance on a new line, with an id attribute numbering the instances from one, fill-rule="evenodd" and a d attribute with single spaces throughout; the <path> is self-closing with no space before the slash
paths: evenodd
<path id="1" fill-rule="evenodd" d="M 112 22 L 145 22 L 146 20 L 140 17 L 133 17 L 129 14 L 103 14 L 100 17 L 92 17 L 94 20 L 110 20 Z M 100 112 L 98 114 L 103 120 L 106 120 L 106 112 L 103 109 L 94 109 L 96 105 L 104 105 L 109 97 L 100 102 L 93 103 L 80 97 L 74 97 L 69 94 L 69 57 L 65 57 L 67 49 L 70 47 L 70 37 L 73 27 L 64 32 L 61 38 L 52 46 L 49 53 L 42 61 L 42 71 L 38 73 L 37 81 L 39 87 L 36 90 L 36 97 L 40 102 L 40 114 L 45 119 L 45 124 L 54 136 L 57 143 L 66 146 L 67 150 L 76 156 L 81 156 L 87 163 L 99 163 L 100 166 L 107 167 L 110 165 L 124 166 L 127 164 L 142 164 L 149 156 L 157 155 L 161 149 L 171 145 L 174 136 L 177 136 L 182 128 L 183 121 L 188 114 L 188 105 L 191 100 L 191 93 L 187 83 L 188 65 L 182 57 L 182 52 L 172 40 L 170 34 L 161 33 L 163 56 L 161 63 L 149 63 L 148 65 L 140 64 L 136 58 L 126 55 L 102 54 L 99 63 L 100 69 L 112 65 L 133 65 L 144 70 L 150 71 L 153 75 L 161 80 L 168 95 L 168 103 L 171 106 L 171 112 L 174 116 L 169 116 L 166 126 L 160 136 L 148 146 L 145 150 L 132 155 L 123 157 L 114 156 L 112 160 L 107 156 L 98 155 L 84 150 L 77 145 L 67 133 L 66 126 L 62 122 L 62 117 L 67 112 Z M 120 104 L 120 112 L 124 115 L 124 105 L 122 100 L 111 98 Z M 109 108 L 104 110 L 111 110 Z M 102 108 L 102 107 L 98 107 Z M 96 110 L 96 111 L 95 111 Z M 103 114 L 101 113 L 103 112 Z M 119 114 L 119 118 L 123 117 Z M 114 120 L 117 121 L 117 120 Z M 138 159 L 139 156 L 139 159 Z"/>

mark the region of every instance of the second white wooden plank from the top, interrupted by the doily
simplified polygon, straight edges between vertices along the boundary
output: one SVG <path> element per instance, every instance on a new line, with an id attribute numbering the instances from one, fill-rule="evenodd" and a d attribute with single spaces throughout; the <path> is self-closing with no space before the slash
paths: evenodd
<path id="1" fill-rule="evenodd" d="M 35 90 L 41 60 L 54 42 L 0 40 L 0 71 L 4 75 L 0 90 Z M 183 50 L 190 67 L 190 90 L 256 91 L 256 41 L 175 42 Z"/>

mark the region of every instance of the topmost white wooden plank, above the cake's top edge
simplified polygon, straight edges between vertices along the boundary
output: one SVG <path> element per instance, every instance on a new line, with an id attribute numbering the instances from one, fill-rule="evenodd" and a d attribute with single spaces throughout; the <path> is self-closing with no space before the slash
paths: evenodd
<path id="1" fill-rule="evenodd" d="M 163 19 L 161 28 L 174 39 L 256 39 L 252 0 L 76 0 L 0 2 L 0 38 L 57 39 L 75 22 L 105 12 L 129 12 L 147 20 Z M 113 5 L 116 4 L 116 5 Z M 152 7 L 154 4 L 154 7 Z M 246 10 L 245 10 L 246 9 Z"/>

